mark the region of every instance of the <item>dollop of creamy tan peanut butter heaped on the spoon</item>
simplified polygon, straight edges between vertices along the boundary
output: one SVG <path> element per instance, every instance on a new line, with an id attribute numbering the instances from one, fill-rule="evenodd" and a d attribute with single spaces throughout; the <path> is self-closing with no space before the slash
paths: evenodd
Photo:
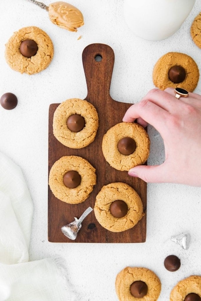
<path id="1" fill-rule="evenodd" d="M 49 5 L 48 13 L 52 23 L 61 28 L 77 31 L 78 27 L 84 25 L 81 11 L 69 3 L 63 1 L 54 2 Z"/>

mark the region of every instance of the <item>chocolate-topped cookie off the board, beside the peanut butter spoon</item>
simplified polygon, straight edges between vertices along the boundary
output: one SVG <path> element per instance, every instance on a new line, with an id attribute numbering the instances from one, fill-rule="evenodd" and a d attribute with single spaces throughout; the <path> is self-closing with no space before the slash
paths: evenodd
<path id="1" fill-rule="evenodd" d="M 8 40 L 5 59 L 8 65 L 20 73 L 34 74 L 44 70 L 54 54 L 50 37 L 36 26 L 18 30 Z"/>

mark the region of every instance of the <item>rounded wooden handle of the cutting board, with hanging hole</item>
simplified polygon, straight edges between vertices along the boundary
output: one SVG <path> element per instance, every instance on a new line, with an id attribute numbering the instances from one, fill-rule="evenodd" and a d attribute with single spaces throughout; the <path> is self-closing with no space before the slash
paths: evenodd
<path id="1" fill-rule="evenodd" d="M 90 44 L 82 53 L 82 62 L 87 85 L 87 100 L 110 97 L 110 83 L 115 54 L 105 44 Z"/>

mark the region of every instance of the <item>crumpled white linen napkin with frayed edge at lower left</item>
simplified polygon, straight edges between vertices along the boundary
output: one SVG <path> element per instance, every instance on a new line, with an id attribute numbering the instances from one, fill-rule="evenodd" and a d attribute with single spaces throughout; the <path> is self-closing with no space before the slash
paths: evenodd
<path id="1" fill-rule="evenodd" d="M 32 215 L 20 167 L 0 152 L 0 301 L 73 301 L 63 259 L 28 262 Z"/>

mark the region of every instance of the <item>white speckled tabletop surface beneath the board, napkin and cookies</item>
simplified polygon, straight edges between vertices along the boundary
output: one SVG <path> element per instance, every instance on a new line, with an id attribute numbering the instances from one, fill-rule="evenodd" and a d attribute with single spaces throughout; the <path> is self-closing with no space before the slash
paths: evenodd
<path id="1" fill-rule="evenodd" d="M 49 5 L 50 1 L 45 3 Z M 146 243 L 49 243 L 48 109 L 51 103 L 86 97 L 81 57 L 83 49 L 91 43 L 108 44 L 115 52 L 111 97 L 118 101 L 138 102 L 154 87 L 153 66 L 166 52 L 190 55 L 201 71 L 201 49 L 190 37 L 190 26 L 201 11 L 201 3 L 196 0 L 190 15 L 173 36 L 158 42 L 142 40 L 127 28 L 123 0 L 71 0 L 70 3 L 82 11 L 85 20 L 85 25 L 77 33 L 55 26 L 49 21 L 46 11 L 24 0 L 0 1 L 0 95 L 12 92 L 18 98 L 14 110 L 0 107 L 0 151 L 20 165 L 33 199 L 30 260 L 63 256 L 68 262 L 68 278 L 79 295 L 77 301 L 116 301 L 115 277 L 122 268 L 150 268 L 162 282 L 159 301 L 166 301 L 177 281 L 192 274 L 201 275 L 201 189 L 148 184 Z M 50 36 L 55 55 L 49 67 L 41 73 L 21 75 L 6 64 L 5 43 L 14 31 L 32 25 Z M 82 39 L 77 40 L 80 35 Z M 200 80 L 195 92 L 201 94 Z M 123 117 L 124 112 L 119 113 Z M 162 140 L 152 127 L 148 132 L 152 143 L 148 163 L 161 163 L 164 159 Z M 191 234 L 189 250 L 181 249 L 170 240 L 172 235 L 181 232 Z M 181 259 L 181 268 L 174 273 L 163 266 L 165 257 L 170 254 Z"/>

